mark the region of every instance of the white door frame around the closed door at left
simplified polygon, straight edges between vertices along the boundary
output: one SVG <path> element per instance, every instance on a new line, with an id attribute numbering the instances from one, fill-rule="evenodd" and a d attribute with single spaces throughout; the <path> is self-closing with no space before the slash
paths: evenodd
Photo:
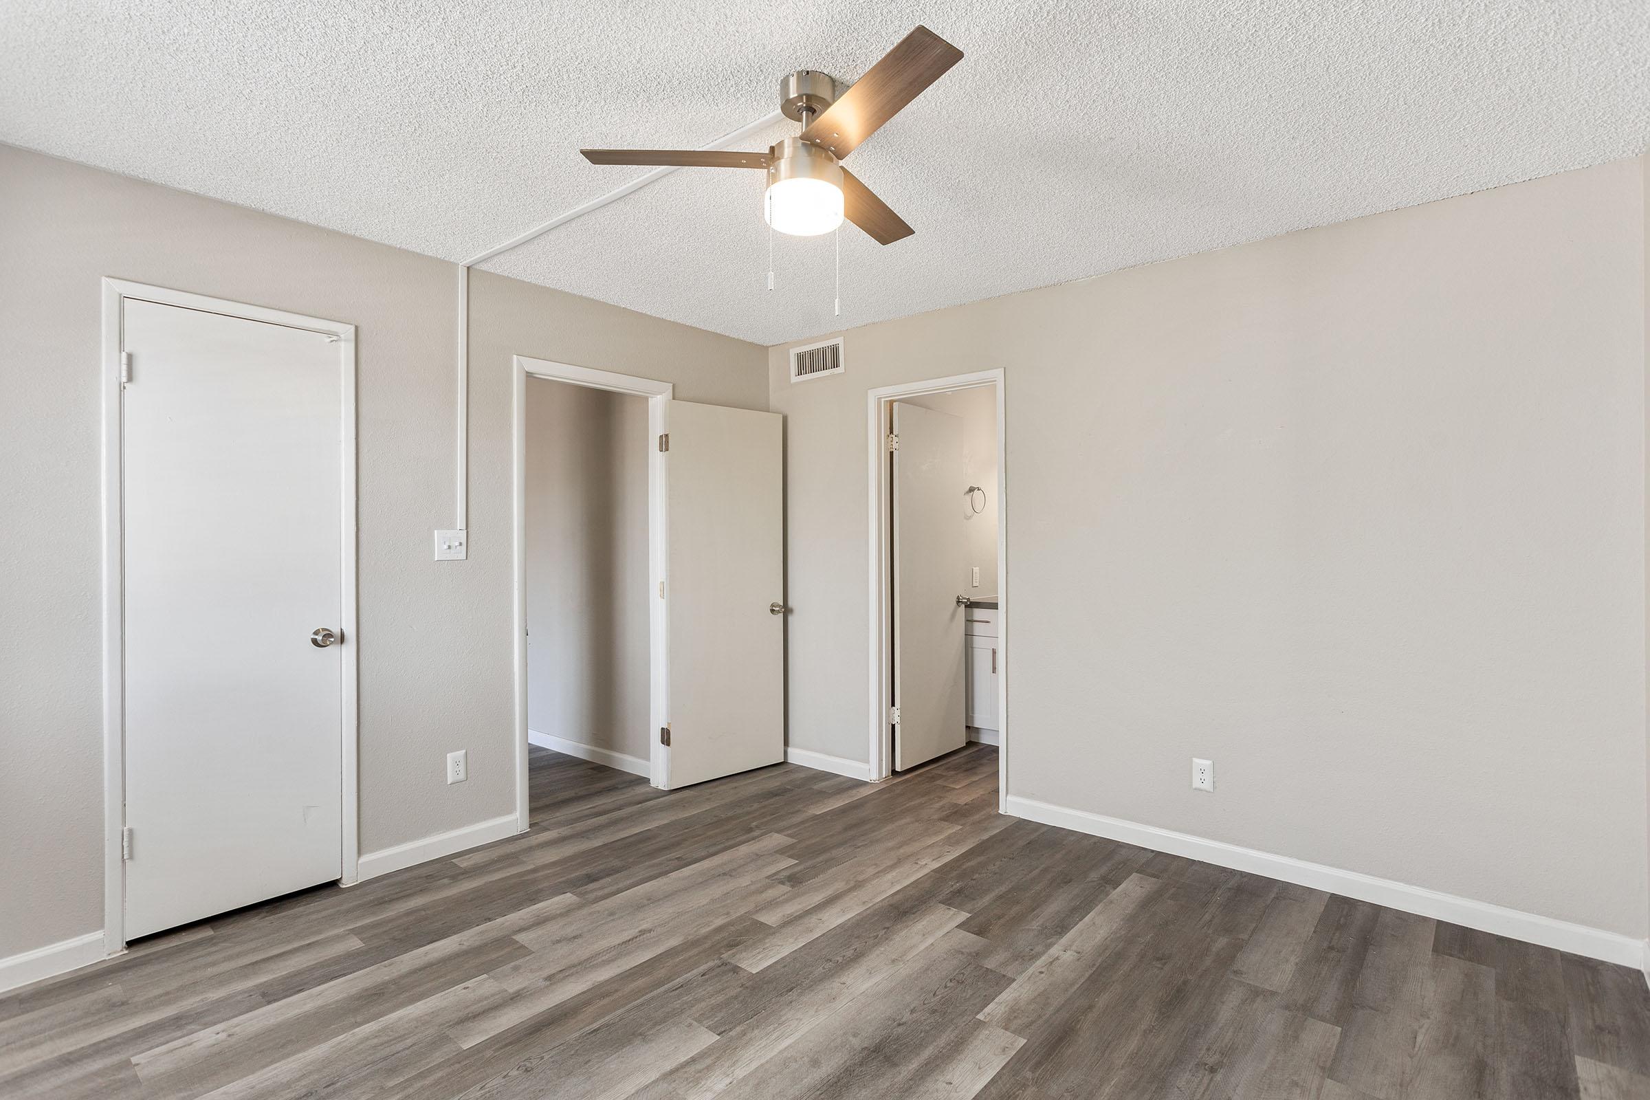
<path id="1" fill-rule="evenodd" d="M 102 673 L 104 673 L 104 953 L 119 955 L 125 950 L 125 861 L 120 853 L 120 834 L 125 828 L 125 571 L 122 561 L 122 424 L 120 424 L 120 322 L 122 302 L 139 299 L 158 305 L 175 305 L 205 313 L 239 317 L 249 322 L 284 325 L 322 333 L 338 345 L 338 374 L 342 384 L 340 404 L 340 501 L 342 523 L 338 543 L 340 567 L 340 630 L 343 633 L 343 777 L 342 805 L 342 859 L 338 879 L 350 886 L 358 877 L 360 820 L 358 820 L 358 769 L 356 755 L 356 688 L 360 661 L 356 656 L 356 604 L 355 604 L 355 325 L 330 322 L 304 313 L 287 313 L 244 302 L 211 299 L 186 290 L 152 287 L 125 279 L 102 280 Z M 142 364 L 139 364 L 142 369 Z"/>

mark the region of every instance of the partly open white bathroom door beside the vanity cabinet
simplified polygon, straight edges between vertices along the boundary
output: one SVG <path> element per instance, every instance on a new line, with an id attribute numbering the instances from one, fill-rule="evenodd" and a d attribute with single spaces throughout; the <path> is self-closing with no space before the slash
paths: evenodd
<path id="1" fill-rule="evenodd" d="M 894 402 L 894 770 L 969 742 L 962 417 Z"/>

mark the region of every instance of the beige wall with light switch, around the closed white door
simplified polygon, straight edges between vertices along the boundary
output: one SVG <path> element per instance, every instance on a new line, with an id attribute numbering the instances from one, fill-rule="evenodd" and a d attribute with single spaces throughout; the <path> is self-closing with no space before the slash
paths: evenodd
<path id="1" fill-rule="evenodd" d="M 767 404 L 761 348 L 477 272 L 470 561 L 452 264 L 0 147 L 0 958 L 102 927 L 99 279 L 360 327 L 361 851 L 513 811 L 510 356 Z M 467 783 L 442 760 L 470 750 Z"/>

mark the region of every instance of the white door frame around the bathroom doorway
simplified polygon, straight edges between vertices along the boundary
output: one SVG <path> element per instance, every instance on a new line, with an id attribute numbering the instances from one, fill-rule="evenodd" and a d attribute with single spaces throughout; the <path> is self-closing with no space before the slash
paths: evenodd
<path id="1" fill-rule="evenodd" d="M 888 477 L 893 468 L 893 457 L 884 442 L 888 432 L 889 406 L 901 397 L 921 394 L 944 394 L 957 389 L 974 389 L 977 386 L 993 386 L 997 393 L 997 648 L 1002 658 L 997 665 L 997 808 L 1008 813 L 1008 666 L 1011 665 L 1008 650 L 1008 422 L 1003 416 L 1003 371 L 974 371 L 972 374 L 952 374 L 949 378 L 931 378 L 921 383 L 901 383 L 898 386 L 881 386 L 866 394 L 868 430 L 866 444 L 870 454 L 870 498 L 871 498 L 871 782 L 888 778 L 893 773 L 888 752 L 888 707 L 893 704 L 894 686 L 889 670 L 893 653 L 889 645 L 888 622 L 893 613 L 889 602 L 893 581 L 893 562 L 888 552 L 889 534 L 889 493 Z"/>

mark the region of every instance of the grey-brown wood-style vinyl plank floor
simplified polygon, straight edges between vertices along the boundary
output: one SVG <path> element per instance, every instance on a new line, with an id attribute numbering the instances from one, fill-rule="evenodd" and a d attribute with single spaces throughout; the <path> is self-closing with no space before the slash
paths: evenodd
<path id="1" fill-rule="evenodd" d="M 0 996 L 0 1097 L 1650 1100 L 1637 971 L 1018 821 L 997 750 L 660 793 Z"/>

